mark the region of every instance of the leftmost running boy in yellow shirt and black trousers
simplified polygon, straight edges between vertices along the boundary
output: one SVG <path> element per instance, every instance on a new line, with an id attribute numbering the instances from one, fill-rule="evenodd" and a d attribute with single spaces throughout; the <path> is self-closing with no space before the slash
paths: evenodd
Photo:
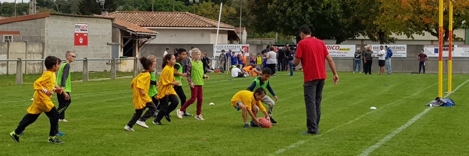
<path id="1" fill-rule="evenodd" d="M 44 64 L 47 70 L 33 83 L 35 92 L 33 102 L 27 110 L 28 113 L 24 115 L 15 131 L 10 133 L 10 136 L 16 142 L 20 142 L 18 134 L 22 133 L 27 126 L 34 123 L 39 115 L 44 112 L 45 115 L 49 117 L 51 123 L 51 130 L 47 141 L 50 143 L 63 143 L 63 141 L 55 137 L 55 135 L 59 133 L 60 113 L 51 100 L 53 92 L 63 94 L 65 99 L 70 98 L 68 94 L 55 83 L 55 72 L 57 72 L 61 66 L 61 59 L 55 56 L 47 56 L 44 60 Z"/>

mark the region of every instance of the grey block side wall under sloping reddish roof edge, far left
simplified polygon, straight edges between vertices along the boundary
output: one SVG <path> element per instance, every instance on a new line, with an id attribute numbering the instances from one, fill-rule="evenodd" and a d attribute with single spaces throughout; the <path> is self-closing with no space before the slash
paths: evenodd
<path id="1" fill-rule="evenodd" d="M 20 31 L 19 36 L 13 36 L 13 42 L 40 43 L 45 39 L 45 18 L 1 24 L 0 30 Z"/>

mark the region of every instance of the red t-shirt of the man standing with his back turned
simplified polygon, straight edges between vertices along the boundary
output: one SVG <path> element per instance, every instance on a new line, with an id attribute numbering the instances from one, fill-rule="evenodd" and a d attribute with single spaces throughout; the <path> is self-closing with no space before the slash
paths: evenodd
<path id="1" fill-rule="evenodd" d="M 322 40 L 308 37 L 301 40 L 296 47 L 295 57 L 301 60 L 304 82 L 325 79 L 325 56 L 329 55 Z"/>

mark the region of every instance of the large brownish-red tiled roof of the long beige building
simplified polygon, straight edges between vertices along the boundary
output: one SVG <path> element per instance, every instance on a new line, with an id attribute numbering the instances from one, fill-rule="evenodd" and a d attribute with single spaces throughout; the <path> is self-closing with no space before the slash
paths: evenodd
<path id="1" fill-rule="evenodd" d="M 193 27 L 217 28 L 218 21 L 211 20 L 189 12 L 113 12 L 109 16 L 142 27 Z M 220 28 L 234 29 L 233 26 L 221 23 Z"/>

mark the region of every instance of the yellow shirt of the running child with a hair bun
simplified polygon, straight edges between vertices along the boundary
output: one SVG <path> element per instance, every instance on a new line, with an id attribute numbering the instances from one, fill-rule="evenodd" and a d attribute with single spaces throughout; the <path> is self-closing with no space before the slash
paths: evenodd
<path id="1" fill-rule="evenodd" d="M 150 89 L 149 72 L 138 74 L 130 83 L 130 88 L 134 90 L 132 101 L 134 102 L 135 109 L 142 109 L 146 106 L 146 103 L 151 102 L 151 98 L 148 96 L 148 90 Z M 145 95 L 142 94 L 140 89 L 144 90 Z"/>

